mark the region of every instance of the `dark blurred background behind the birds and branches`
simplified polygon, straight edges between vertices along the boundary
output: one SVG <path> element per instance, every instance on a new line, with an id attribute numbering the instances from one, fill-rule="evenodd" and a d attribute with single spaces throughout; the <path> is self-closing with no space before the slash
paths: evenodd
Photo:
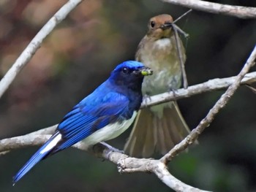
<path id="1" fill-rule="evenodd" d="M 0 77 L 65 2 L 0 0 Z M 256 7 L 251 0 L 217 2 Z M 58 123 L 117 64 L 134 59 L 149 18 L 162 13 L 178 18 L 187 10 L 157 0 L 83 1 L 0 99 L 0 139 Z M 177 24 L 190 35 L 184 39 L 189 85 L 238 74 L 255 46 L 256 20 L 193 11 Z M 178 101 L 191 129 L 222 93 Z M 170 172 L 205 190 L 256 191 L 255 112 L 256 95 L 242 86 L 200 136 L 200 145 L 170 162 Z M 109 143 L 121 149 L 129 131 Z M 118 174 L 116 165 L 75 149 L 41 162 L 12 187 L 12 176 L 37 148 L 0 156 L 0 191 L 170 191 L 154 174 Z"/>

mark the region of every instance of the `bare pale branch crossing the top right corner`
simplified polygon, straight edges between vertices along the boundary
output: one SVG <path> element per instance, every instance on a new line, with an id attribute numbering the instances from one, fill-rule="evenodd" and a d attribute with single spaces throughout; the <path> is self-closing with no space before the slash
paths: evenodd
<path id="1" fill-rule="evenodd" d="M 217 4 L 200 0 L 161 0 L 170 4 L 177 4 L 190 9 L 215 14 L 230 15 L 237 18 L 256 18 L 256 7 L 242 7 L 228 4 Z"/>

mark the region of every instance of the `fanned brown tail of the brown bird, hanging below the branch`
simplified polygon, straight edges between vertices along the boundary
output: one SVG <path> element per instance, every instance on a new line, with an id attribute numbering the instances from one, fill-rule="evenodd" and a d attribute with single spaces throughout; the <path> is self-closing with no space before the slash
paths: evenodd
<path id="1" fill-rule="evenodd" d="M 189 134 L 176 101 L 156 107 L 159 107 L 157 112 L 152 107 L 138 112 L 124 146 L 125 153 L 143 158 L 151 157 L 154 152 L 164 155 Z"/>

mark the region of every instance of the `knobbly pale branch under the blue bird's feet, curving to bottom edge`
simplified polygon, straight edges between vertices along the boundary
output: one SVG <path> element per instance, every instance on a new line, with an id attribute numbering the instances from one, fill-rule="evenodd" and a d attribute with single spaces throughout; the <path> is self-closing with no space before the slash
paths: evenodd
<path id="1" fill-rule="evenodd" d="M 43 145 L 50 138 L 50 136 L 51 135 L 31 133 L 20 137 L 2 139 L 0 140 L 0 151 Z M 167 171 L 165 164 L 159 160 L 151 158 L 131 158 L 128 155 L 110 151 L 106 149 L 104 145 L 100 144 L 97 145 L 96 149 L 94 147 L 88 148 L 88 146 L 84 145 L 83 142 L 78 142 L 72 147 L 88 151 L 89 153 L 93 153 L 98 157 L 102 157 L 113 162 L 113 164 L 117 164 L 118 172 L 153 172 L 157 175 L 157 177 L 159 177 L 160 180 L 162 180 L 163 183 L 175 191 L 204 192 L 198 188 L 193 188 L 192 186 L 181 182 L 176 177 L 173 177 L 173 175 Z"/>

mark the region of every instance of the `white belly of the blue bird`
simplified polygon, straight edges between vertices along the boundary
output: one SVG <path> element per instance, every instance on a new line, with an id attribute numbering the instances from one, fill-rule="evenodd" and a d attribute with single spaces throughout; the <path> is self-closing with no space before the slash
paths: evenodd
<path id="1" fill-rule="evenodd" d="M 125 130 L 127 130 L 127 128 L 129 128 L 129 126 L 135 120 L 136 115 L 137 112 L 135 111 L 132 114 L 132 118 L 130 118 L 129 120 L 124 120 L 124 122 L 122 123 L 112 123 L 108 126 L 100 128 L 99 130 L 91 134 L 89 137 L 86 137 L 86 139 L 83 139 L 84 144 L 91 146 L 97 144 L 98 142 L 105 142 L 110 139 L 118 137 Z"/>

